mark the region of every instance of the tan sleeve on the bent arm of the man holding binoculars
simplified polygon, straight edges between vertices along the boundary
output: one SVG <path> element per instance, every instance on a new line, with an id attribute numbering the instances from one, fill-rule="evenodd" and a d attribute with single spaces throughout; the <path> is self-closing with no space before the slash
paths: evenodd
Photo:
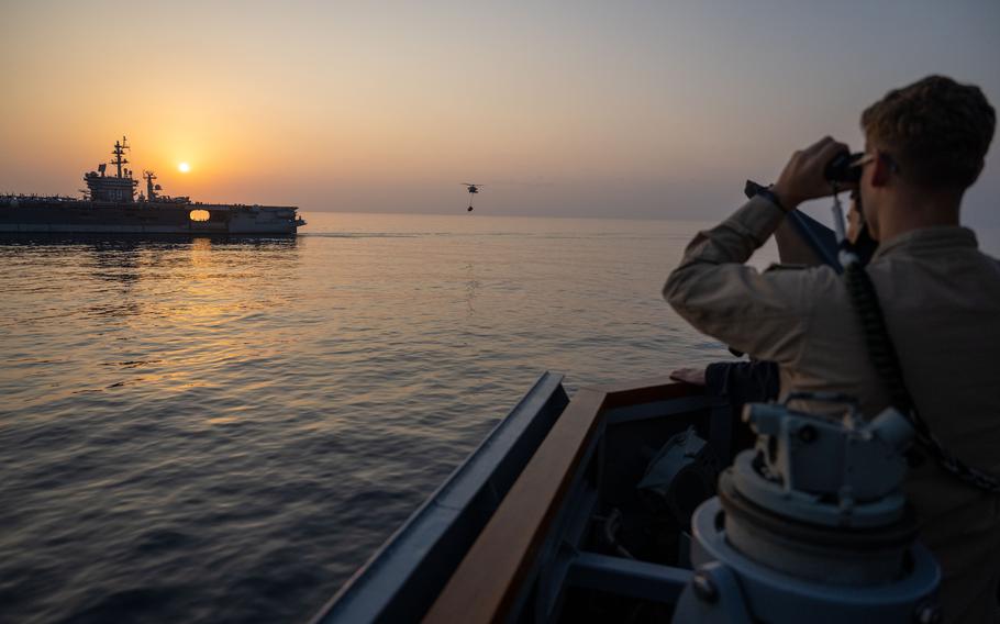
<path id="1" fill-rule="evenodd" d="M 664 298 L 697 330 L 755 358 L 788 365 L 803 347 L 811 271 L 760 274 L 743 265 L 784 218 L 781 209 L 757 197 L 700 232 L 667 279 Z"/>

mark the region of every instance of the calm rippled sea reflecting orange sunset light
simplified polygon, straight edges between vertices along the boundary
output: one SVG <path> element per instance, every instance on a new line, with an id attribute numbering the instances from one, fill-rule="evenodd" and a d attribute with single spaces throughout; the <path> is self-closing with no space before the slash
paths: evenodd
<path id="1" fill-rule="evenodd" d="M 301 621 L 543 371 L 731 357 L 659 296 L 696 223 L 305 216 L 0 243 L 0 621 Z"/>

